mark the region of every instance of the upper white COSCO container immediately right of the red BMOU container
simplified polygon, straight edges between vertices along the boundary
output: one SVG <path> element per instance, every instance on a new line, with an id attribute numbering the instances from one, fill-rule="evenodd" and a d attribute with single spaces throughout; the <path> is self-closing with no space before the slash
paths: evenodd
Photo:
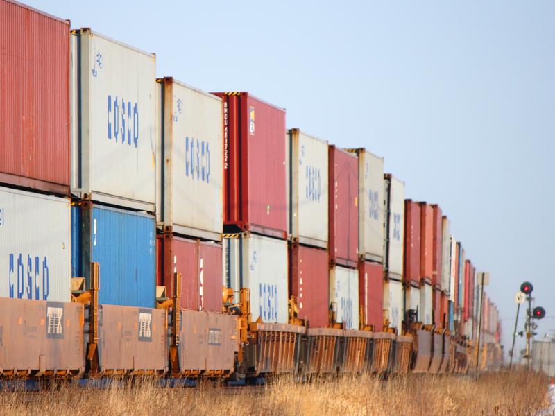
<path id="1" fill-rule="evenodd" d="M 298 128 L 287 132 L 289 233 L 293 242 L 327 248 L 327 142 Z"/>

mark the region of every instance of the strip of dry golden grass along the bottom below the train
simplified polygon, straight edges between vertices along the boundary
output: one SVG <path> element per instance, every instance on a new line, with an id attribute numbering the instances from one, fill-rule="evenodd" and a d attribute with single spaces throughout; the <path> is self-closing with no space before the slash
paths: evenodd
<path id="1" fill-rule="evenodd" d="M 153 381 L 106 389 L 1 392 L 0 413 L 18 415 L 529 415 L 546 408 L 547 379 L 499 372 L 471 377 L 348 376 L 285 379 L 264 388 L 160 388 Z"/>

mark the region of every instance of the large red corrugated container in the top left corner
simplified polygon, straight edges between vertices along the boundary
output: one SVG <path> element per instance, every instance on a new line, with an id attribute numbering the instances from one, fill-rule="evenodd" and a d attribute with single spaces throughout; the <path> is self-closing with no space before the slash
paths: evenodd
<path id="1" fill-rule="evenodd" d="M 69 21 L 0 0 L 0 182 L 69 195 Z"/>

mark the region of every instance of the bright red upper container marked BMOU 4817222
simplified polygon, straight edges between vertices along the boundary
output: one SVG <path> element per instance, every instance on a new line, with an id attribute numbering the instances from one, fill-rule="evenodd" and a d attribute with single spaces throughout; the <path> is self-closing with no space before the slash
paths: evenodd
<path id="1" fill-rule="evenodd" d="M 285 110 L 248 92 L 223 99 L 223 223 L 287 238 Z"/>

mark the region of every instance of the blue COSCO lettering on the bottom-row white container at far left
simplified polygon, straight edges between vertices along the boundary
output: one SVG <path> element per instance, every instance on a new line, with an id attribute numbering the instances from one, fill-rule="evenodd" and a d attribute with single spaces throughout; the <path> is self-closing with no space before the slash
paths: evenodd
<path id="1" fill-rule="evenodd" d="M 28 255 L 25 264 L 22 254 L 16 258 L 15 254 L 11 253 L 9 266 L 10 297 L 21 299 L 25 296 L 27 299 L 48 300 L 50 272 L 46 256 L 41 262 L 38 256 L 32 259 Z"/>

